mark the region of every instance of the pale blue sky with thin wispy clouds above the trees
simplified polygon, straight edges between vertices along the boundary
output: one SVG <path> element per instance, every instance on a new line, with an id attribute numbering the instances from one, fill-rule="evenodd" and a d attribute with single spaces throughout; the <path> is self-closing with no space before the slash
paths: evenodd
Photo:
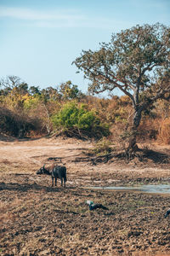
<path id="1" fill-rule="evenodd" d="M 82 49 L 98 49 L 113 32 L 137 24 L 169 26 L 170 0 L 0 0 L 0 79 L 30 86 L 88 81 L 71 65 Z"/>

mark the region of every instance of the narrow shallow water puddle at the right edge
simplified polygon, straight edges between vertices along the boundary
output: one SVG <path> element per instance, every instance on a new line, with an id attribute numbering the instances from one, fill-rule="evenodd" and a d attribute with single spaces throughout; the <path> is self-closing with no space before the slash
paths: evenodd
<path id="1" fill-rule="evenodd" d="M 139 191 L 144 193 L 170 194 L 170 184 L 142 185 L 136 187 L 91 187 L 90 189 L 107 189 L 121 191 Z"/>

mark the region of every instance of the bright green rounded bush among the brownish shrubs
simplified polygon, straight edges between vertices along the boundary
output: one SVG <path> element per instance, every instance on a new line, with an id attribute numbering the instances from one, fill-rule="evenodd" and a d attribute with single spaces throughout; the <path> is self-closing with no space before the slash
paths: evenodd
<path id="1" fill-rule="evenodd" d="M 85 104 L 68 102 L 52 117 L 54 127 L 62 129 L 69 137 L 101 138 L 109 135 L 109 125 L 102 124 L 94 111 Z"/>

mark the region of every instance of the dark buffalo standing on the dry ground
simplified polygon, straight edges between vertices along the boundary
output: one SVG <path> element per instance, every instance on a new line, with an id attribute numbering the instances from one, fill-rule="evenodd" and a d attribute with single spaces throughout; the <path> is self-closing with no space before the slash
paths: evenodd
<path id="1" fill-rule="evenodd" d="M 57 186 L 57 178 L 61 181 L 61 186 L 63 186 L 64 181 L 64 187 L 66 182 L 66 167 L 65 166 L 53 166 L 53 167 L 46 167 L 42 166 L 38 171 L 37 174 L 47 174 L 51 175 L 52 177 L 52 187 L 54 186 L 54 179 L 55 179 L 55 186 Z"/>

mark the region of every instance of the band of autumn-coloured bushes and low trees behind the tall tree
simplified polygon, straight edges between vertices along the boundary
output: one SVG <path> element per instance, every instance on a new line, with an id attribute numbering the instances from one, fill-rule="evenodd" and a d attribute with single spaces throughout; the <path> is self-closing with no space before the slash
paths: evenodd
<path id="1" fill-rule="evenodd" d="M 5 86 L 3 83 L 1 79 L 0 132 L 3 134 L 22 138 L 63 132 L 65 136 L 82 139 L 111 137 L 113 142 L 128 138 L 133 106 L 127 96 L 85 95 L 71 81 L 42 90 L 29 87 L 16 76 L 7 77 Z M 138 140 L 170 143 L 169 113 L 169 102 L 163 100 L 146 109 Z M 82 117 L 79 121 L 78 116 Z"/>

